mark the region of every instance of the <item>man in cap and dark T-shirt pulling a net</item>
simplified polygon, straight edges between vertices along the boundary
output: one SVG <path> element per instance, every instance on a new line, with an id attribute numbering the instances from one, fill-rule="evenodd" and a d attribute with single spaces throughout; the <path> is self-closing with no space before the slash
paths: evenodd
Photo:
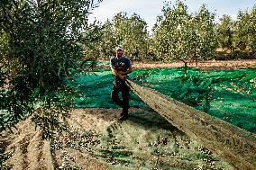
<path id="1" fill-rule="evenodd" d="M 125 81 L 126 76 L 133 71 L 133 67 L 131 60 L 123 57 L 123 47 L 121 45 L 115 48 L 115 57 L 110 59 L 110 67 L 114 75 L 111 97 L 114 103 L 123 108 L 119 121 L 125 121 L 128 119 L 129 109 L 129 87 L 125 84 Z M 118 96 L 120 92 L 123 100 Z"/>

